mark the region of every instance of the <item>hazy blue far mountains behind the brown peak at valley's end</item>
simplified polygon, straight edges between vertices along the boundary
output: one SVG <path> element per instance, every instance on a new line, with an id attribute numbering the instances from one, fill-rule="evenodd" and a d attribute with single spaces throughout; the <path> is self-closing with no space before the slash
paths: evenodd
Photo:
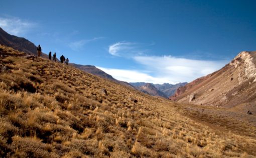
<path id="1" fill-rule="evenodd" d="M 146 85 L 147 83 L 146 82 L 130 82 L 130 84 L 132 84 L 133 86 L 135 86 L 137 89 L 140 90 L 140 87 Z M 175 93 L 178 87 L 184 86 L 185 84 L 187 84 L 187 82 L 177 83 L 177 84 L 169 84 L 169 83 L 164 83 L 164 84 L 150 83 L 150 84 L 154 85 L 158 91 L 161 91 L 162 95 L 164 94 L 165 96 L 169 97 Z M 143 92 L 149 93 L 145 90 L 143 90 Z"/>

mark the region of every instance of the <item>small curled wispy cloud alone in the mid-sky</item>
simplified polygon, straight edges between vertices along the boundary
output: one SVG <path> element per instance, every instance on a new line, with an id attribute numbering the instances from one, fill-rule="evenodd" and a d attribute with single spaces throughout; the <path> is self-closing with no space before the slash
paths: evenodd
<path id="1" fill-rule="evenodd" d="M 109 45 L 108 52 L 114 56 L 132 57 L 135 55 L 143 55 L 145 50 L 139 43 L 119 41 Z"/>

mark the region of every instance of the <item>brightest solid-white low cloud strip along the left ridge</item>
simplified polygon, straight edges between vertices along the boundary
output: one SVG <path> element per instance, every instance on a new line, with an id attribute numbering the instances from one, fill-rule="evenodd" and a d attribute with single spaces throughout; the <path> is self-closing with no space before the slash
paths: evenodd
<path id="1" fill-rule="evenodd" d="M 150 82 L 150 83 L 170 83 L 169 78 L 153 77 L 150 74 L 140 70 L 116 69 L 116 68 L 97 68 L 112 75 L 115 79 L 127 82 Z M 174 82 L 173 82 L 174 83 Z"/>

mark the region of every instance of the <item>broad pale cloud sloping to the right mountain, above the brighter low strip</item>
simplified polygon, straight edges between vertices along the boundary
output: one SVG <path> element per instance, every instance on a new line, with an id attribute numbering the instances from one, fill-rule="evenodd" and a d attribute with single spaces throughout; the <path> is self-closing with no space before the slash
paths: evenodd
<path id="1" fill-rule="evenodd" d="M 173 56 L 136 56 L 134 59 L 151 70 L 154 76 L 169 78 L 169 82 L 192 81 L 228 63 L 227 60 L 194 60 Z"/>

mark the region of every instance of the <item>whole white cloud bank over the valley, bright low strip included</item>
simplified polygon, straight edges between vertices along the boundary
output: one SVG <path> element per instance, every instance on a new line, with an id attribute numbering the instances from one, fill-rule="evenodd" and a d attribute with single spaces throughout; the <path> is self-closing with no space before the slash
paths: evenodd
<path id="1" fill-rule="evenodd" d="M 118 80 L 127 82 L 178 83 L 190 82 L 220 69 L 227 60 L 194 60 L 173 56 L 135 56 L 144 69 L 129 70 L 98 67 Z"/>

